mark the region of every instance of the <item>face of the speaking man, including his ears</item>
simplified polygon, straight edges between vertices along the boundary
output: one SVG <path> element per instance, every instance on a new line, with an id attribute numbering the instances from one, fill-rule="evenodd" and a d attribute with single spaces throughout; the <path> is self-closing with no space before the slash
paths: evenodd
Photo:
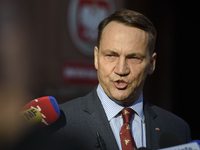
<path id="1" fill-rule="evenodd" d="M 147 74 L 155 69 L 156 53 L 147 49 L 147 32 L 112 21 L 95 47 L 95 68 L 104 92 L 129 106 L 140 96 Z"/>

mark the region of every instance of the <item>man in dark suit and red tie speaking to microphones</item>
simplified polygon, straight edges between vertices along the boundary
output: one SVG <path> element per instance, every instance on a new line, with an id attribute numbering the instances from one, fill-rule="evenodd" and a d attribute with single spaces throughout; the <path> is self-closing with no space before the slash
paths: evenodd
<path id="1" fill-rule="evenodd" d="M 94 64 L 99 85 L 88 95 L 60 105 L 64 126 L 57 135 L 65 144 L 87 150 L 125 150 L 124 145 L 129 144 L 131 149 L 154 150 L 164 131 L 190 141 L 186 122 L 143 99 L 145 79 L 156 64 L 153 24 L 138 12 L 121 10 L 104 19 L 98 30 Z M 124 108 L 131 108 L 125 114 L 133 113 L 128 124 L 122 116 Z M 124 124 L 126 131 L 122 131 Z M 128 138 L 122 137 L 124 132 Z"/>

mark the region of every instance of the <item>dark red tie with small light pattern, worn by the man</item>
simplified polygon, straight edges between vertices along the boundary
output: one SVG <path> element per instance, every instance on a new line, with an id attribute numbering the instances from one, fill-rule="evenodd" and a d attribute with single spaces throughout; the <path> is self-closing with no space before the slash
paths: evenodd
<path id="1" fill-rule="evenodd" d="M 123 125 L 120 132 L 122 150 L 136 150 L 137 146 L 133 139 L 130 130 L 130 121 L 131 117 L 134 113 L 134 110 L 131 108 L 125 108 L 122 110 L 122 118 L 123 118 Z"/>

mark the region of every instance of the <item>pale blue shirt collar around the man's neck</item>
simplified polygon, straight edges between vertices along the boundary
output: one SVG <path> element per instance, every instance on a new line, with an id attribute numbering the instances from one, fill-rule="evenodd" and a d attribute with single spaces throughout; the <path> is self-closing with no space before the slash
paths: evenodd
<path id="1" fill-rule="evenodd" d="M 101 85 L 99 84 L 97 87 L 97 95 L 103 105 L 103 108 L 106 112 L 107 118 L 110 121 L 114 118 L 119 112 L 124 109 L 124 106 L 121 106 L 111 100 L 106 93 L 103 91 Z M 135 103 L 133 103 L 129 108 L 132 108 L 136 114 L 141 118 L 144 122 L 144 112 L 143 112 L 143 92 L 141 93 L 140 97 L 137 99 Z"/>

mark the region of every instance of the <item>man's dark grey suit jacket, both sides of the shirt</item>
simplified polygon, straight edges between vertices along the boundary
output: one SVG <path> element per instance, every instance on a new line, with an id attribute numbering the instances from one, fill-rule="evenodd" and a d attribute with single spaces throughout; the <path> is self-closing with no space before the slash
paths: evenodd
<path id="1" fill-rule="evenodd" d="M 60 108 L 62 115 L 59 122 L 63 127 L 54 135 L 62 139 L 61 149 L 98 150 L 97 132 L 107 150 L 119 149 L 96 88 L 84 97 L 61 104 Z M 159 138 L 164 131 L 176 132 L 185 143 L 191 140 L 188 124 L 176 115 L 146 102 L 144 115 L 147 148 L 158 149 Z"/>

